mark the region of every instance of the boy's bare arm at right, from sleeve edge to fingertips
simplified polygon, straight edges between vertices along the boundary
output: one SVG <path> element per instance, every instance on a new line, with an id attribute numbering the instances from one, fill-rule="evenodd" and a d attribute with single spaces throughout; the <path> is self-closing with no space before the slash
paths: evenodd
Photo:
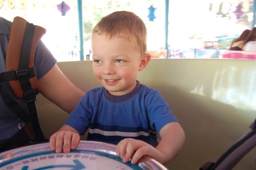
<path id="1" fill-rule="evenodd" d="M 131 160 L 132 164 L 144 155 L 166 164 L 181 150 L 185 142 L 185 134 L 179 123 L 172 122 L 161 128 L 160 136 L 161 140 L 156 148 L 142 140 L 132 138 L 121 140 L 116 148 L 117 155 L 124 162 Z"/>

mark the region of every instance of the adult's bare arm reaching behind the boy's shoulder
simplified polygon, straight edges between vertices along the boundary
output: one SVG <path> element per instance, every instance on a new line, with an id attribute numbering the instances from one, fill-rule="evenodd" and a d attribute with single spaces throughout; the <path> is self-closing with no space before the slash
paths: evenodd
<path id="1" fill-rule="evenodd" d="M 85 92 L 76 87 L 55 64 L 38 79 L 40 93 L 64 111 L 71 113 Z"/>

